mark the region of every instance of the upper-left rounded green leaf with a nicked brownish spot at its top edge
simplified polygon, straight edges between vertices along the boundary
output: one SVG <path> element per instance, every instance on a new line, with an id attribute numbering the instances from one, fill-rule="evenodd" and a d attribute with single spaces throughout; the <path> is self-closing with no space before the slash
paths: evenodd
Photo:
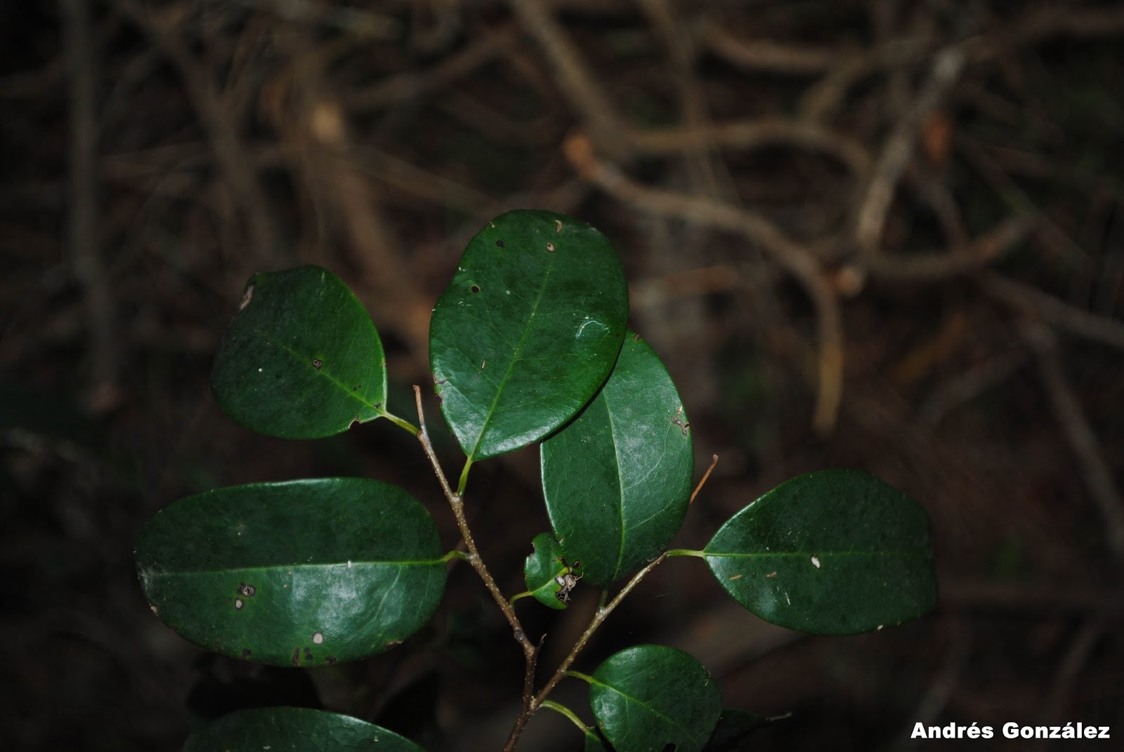
<path id="1" fill-rule="evenodd" d="M 332 436 L 383 414 L 386 357 L 363 305 L 328 270 L 254 274 L 219 343 L 211 390 L 256 433 Z"/>

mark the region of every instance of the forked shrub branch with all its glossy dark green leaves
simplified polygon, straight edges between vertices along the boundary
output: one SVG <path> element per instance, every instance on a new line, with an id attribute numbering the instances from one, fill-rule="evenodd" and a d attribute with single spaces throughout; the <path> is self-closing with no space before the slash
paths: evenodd
<path id="1" fill-rule="evenodd" d="M 211 373 L 223 410 L 251 431 L 293 440 L 390 420 L 420 442 L 463 551 L 443 552 L 426 508 L 379 480 L 220 488 L 175 501 L 144 527 L 136 561 L 153 613 L 223 655 L 328 665 L 391 650 L 422 628 L 441 604 L 448 562 L 463 559 L 526 659 L 505 751 L 546 707 L 575 724 L 587 751 L 671 744 L 716 752 L 732 749 L 754 717 L 724 710 L 717 683 L 688 653 L 634 645 L 591 673 L 571 668 L 667 559 L 703 559 L 743 607 L 815 634 L 880 629 L 933 608 L 924 510 L 859 471 L 794 478 L 734 515 L 701 550 L 668 550 L 692 498 L 691 428 L 667 369 L 627 330 L 627 315 L 620 262 L 589 225 L 527 210 L 488 223 L 465 248 L 429 330 L 434 391 L 465 455 L 454 486 L 429 440 L 420 388 L 418 425 L 388 411 L 382 345 L 346 286 L 318 266 L 254 275 Z M 553 529 L 533 541 L 527 590 L 507 596 L 464 514 L 470 471 L 535 442 Z M 562 609 L 577 587 L 600 588 L 599 606 L 536 689 L 538 644 L 516 604 Z M 566 677 L 589 683 L 593 725 L 550 699 Z M 302 708 L 230 714 L 192 734 L 185 749 L 260 750 L 308 739 L 341 751 L 420 749 L 360 719 Z"/>

